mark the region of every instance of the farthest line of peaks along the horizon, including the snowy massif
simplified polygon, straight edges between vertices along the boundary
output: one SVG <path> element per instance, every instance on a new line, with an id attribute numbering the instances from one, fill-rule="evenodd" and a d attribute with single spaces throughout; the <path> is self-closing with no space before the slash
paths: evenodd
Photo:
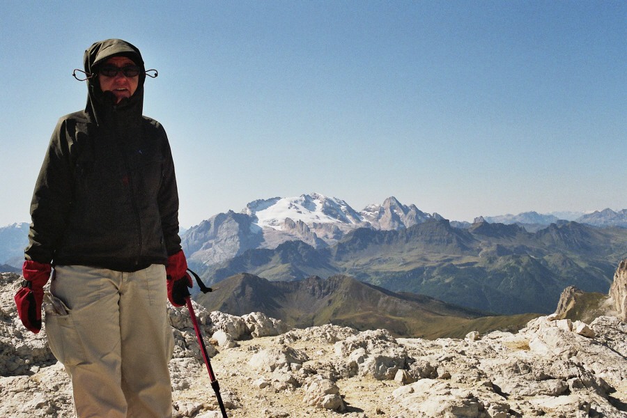
<path id="1" fill-rule="evenodd" d="M 552 223 L 576 221 L 592 226 L 627 228 L 627 209 L 614 212 L 523 212 L 518 215 L 478 217 L 489 223 L 519 224 L 536 231 Z M 211 265 L 242 254 L 247 249 L 276 248 L 288 240 L 302 240 L 315 248 L 333 245 L 357 228 L 398 230 L 442 219 L 415 205 L 405 206 L 394 196 L 381 204 L 373 203 L 356 211 L 346 201 L 318 193 L 291 198 L 274 197 L 248 203 L 240 212 L 229 210 L 204 220 L 192 228 L 180 229 L 183 248 L 195 265 Z M 472 223 L 451 221 L 451 226 L 469 228 Z M 21 268 L 23 250 L 28 244 L 27 222 L 0 227 L 0 263 Z"/>

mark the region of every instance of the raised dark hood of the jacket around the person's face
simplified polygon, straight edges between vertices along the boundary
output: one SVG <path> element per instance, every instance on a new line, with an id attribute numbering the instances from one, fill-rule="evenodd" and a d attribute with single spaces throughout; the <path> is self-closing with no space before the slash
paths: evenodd
<path id="1" fill-rule="evenodd" d="M 126 56 L 136 65 L 141 67 L 139 72 L 139 83 L 137 90 L 128 99 L 123 99 L 115 104 L 112 93 L 103 93 L 100 90 L 100 80 L 98 79 L 98 66 L 111 56 Z M 102 125 L 113 111 L 123 115 L 125 118 L 141 117 L 144 109 L 144 82 L 146 81 L 146 68 L 144 60 L 141 58 L 139 49 L 121 39 L 107 39 L 95 42 L 85 51 L 83 57 L 85 72 L 93 74 L 95 77 L 87 79 L 87 105 L 85 111 L 98 125 Z"/>

